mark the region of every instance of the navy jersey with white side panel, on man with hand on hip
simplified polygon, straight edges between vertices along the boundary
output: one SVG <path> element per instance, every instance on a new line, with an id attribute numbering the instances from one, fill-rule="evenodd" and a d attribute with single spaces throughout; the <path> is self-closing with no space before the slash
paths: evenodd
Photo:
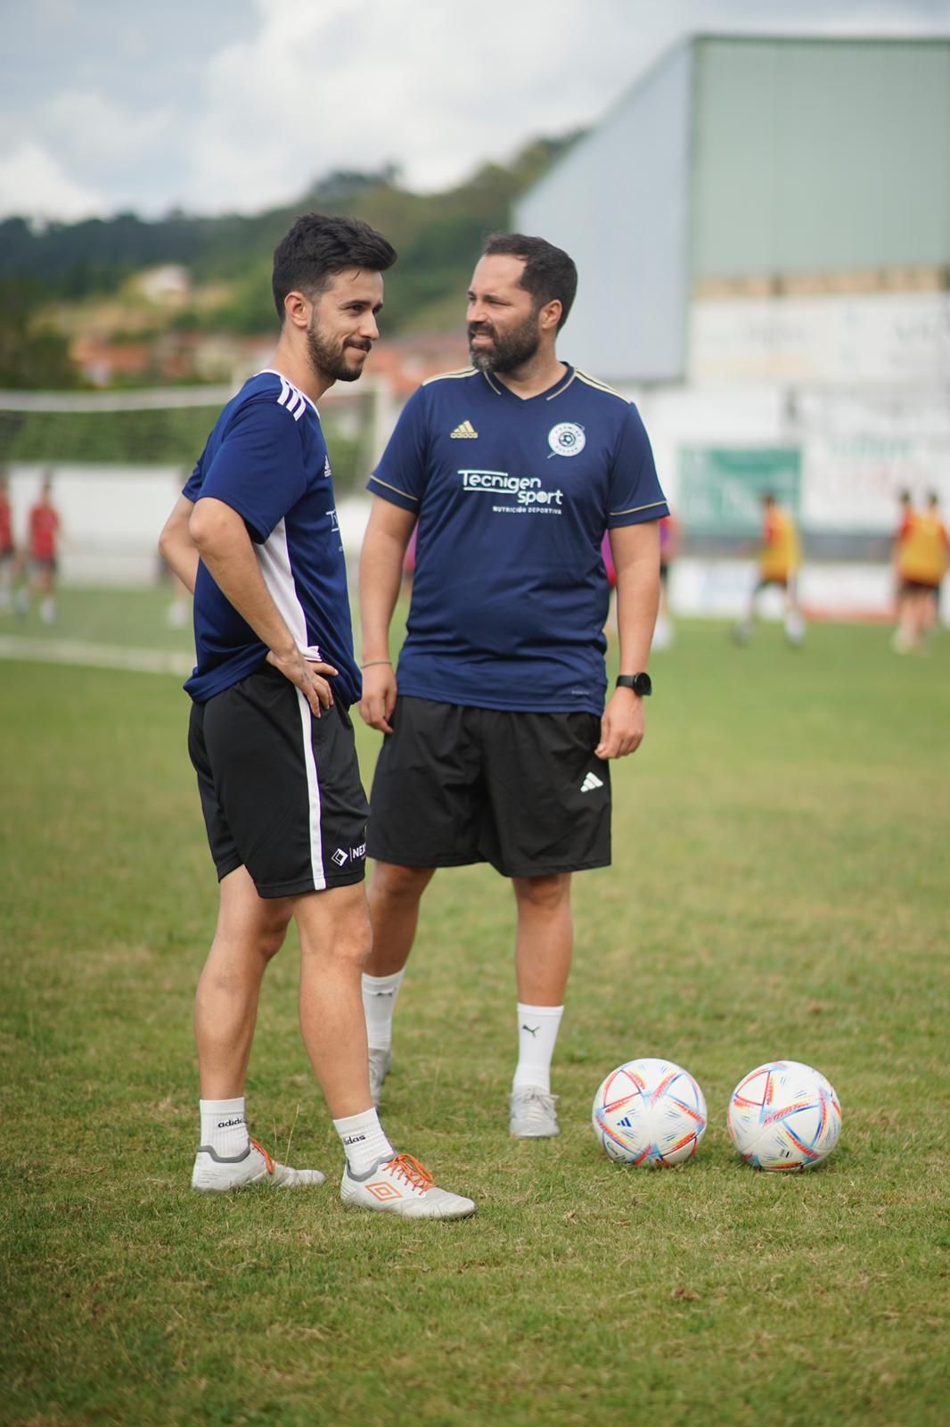
<path id="1" fill-rule="evenodd" d="M 184 495 L 214 497 L 244 518 L 264 582 L 298 648 L 339 671 L 332 686 L 344 704 L 358 699 L 347 565 L 312 401 L 280 372 L 251 377 L 218 417 Z M 267 658 L 267 645 L 204 564 L 194 591 L 194 642 L 198 662 L 185 689 L 197 704 Z"/>

